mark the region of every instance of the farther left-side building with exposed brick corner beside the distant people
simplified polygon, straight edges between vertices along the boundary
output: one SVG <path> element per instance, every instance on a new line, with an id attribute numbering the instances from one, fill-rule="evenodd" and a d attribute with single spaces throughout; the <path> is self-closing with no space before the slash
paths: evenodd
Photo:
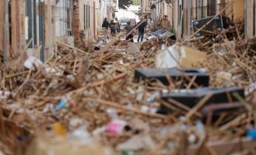
<path id="1" fill-rule="evenodd" d="M 73 33 L 75 44 L 92 44 L 104 18 L 115 18 L 116 0 L 74 0 Z"/>

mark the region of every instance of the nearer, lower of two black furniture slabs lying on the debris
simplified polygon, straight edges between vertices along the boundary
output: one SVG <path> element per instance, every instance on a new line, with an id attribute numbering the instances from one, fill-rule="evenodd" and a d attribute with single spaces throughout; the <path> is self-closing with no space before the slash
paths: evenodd
<path id="1" fill-rule="evenodd" d="M 205 97 L 207 94 L 212 94 L 212 97 L 206 101 L 204 106 L 210 103 L 232 103 L 238 101 L 234 93 L 238 93 L 240 97 L 244 98 L 244 89 L 233 87 L 226 89 L 211 89 L 211 88 L 200 88 L 200 89 L 178 89 L 175 92 L 162 94 L 161 99 L 169 102 L 169 99 L 176 100 L 182 103 L 184 106 L 193 108 L 197 103 Z M 168 114 L 172 112 L 171 109 L 166 106 L 161 106 L 159 113 Z"/>

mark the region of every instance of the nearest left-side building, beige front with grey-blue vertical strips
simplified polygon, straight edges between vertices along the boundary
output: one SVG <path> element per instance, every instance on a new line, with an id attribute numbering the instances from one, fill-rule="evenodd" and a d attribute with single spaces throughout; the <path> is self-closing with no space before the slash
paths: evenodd
<path id="1" fill-rule="evenodd" d="M 56 37 L 67 40 L 70 1 L 0 1 L 4 8 L 0 10 L 0 30 L 4 34 L 0 35 L 0 52 L 4 59 L 15 61 L 27 51 L 28 56 L 47 60 L 56 49 Z"/>

